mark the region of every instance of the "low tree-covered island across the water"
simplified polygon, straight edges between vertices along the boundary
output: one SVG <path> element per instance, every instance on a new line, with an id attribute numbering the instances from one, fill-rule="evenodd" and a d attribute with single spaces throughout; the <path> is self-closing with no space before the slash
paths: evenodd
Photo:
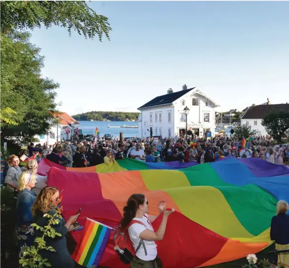
<path id="1" fill-rule="evenodd" d="M 73 115 L 78 121 L 137 121 L 139 113 L 92 111 Z"/>

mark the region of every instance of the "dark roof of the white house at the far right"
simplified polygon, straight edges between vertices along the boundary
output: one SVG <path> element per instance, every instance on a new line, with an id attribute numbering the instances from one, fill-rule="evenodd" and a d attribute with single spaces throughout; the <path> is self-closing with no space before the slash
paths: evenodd
<path id="1" fill-rule="evenodd" d="M 242 119 L 263 119 L 266 114 L 272 111 L 289 111 L 289 104 L 264 104 L 250 107 Z"/>

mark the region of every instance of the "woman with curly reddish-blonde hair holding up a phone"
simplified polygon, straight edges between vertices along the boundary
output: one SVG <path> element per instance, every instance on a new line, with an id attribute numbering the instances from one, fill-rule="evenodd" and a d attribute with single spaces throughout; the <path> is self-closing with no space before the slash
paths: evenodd
<path id="1" fill-rule="evenodd" d="M 56 214 L 55 207 L 59 199 L 59 191 L 55 187 L 46 186 L 44 187 L 40 194 L 37 196 L 34 205 L 32 207 L 32 213 L 34 215 L 34 222 L 44 227 L 48 224 L 49 218 L 43 217 L 44 214 L 48 213 L 51 216 Z M 74 268 L 75 263 L 71 258 L 66 243 L 66 237 L 68 230 L 71 228 L 71 225 L 76 222 L 79 214 L 71 216 L 67 222 L 64 218 L 55 216 L 55 219 L 59 220 L 58 224 L 52 224 L 51 227 L 60 233 L 61 236 L 45 237 L 46 246 L 52 246 L 55 249 L 55 252 L 49 250 L 40 251 L 42 258 L 48 259 L 47 262 L 50 263 L 53 268 Z M 40 230 L 35 230 L 35 236 L 41 237 L 42 232 Z"/>

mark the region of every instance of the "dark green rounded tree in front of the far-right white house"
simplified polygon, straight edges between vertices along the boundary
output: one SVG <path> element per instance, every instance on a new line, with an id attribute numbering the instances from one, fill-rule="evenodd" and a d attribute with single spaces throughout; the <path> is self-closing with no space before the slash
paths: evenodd
<path id="1" fill-rule="evenodd" d="M 277 141 L 289 137 L 289 111 L 273 111 L 264 117 L 261 124 Z"/>

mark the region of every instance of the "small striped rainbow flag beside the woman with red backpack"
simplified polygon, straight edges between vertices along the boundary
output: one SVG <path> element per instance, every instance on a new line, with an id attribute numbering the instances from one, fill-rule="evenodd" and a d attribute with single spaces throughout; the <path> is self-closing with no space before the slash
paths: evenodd
<path id="1" fill-rule="evenodd" d="M 97 267 L 111 231 L 111 227 L 86 218 L 83 236 L 72 256 L 74 260 L 85 267 Z"/>

